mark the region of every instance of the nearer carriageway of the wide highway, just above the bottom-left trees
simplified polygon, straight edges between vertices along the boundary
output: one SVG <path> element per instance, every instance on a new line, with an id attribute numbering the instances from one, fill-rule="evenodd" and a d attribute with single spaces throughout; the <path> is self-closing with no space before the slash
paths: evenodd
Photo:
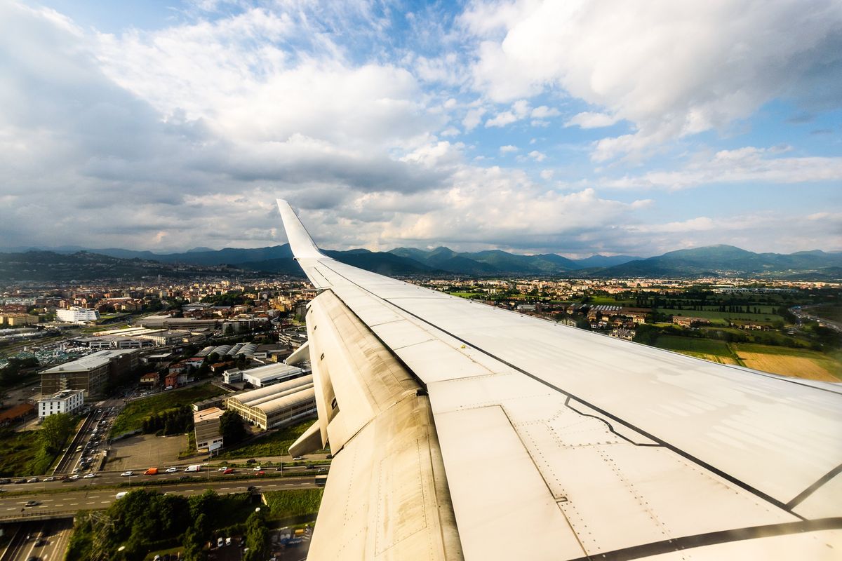
<path id="1" fill-rule="evenodd" d="M 245 479 L 237 481 L 191 482 L 184 484 L 170 484 L 153 487 L 136 487 L 135 489 L 102 489 L 96 490 L 68 490 L 67 493 L 38 495 L 32 499 L 25 496 L 0 498 L 0 520 L 4 516 L 16 516 L 22 513 L 37 514 L 39 512 L 74 513 L 108 508 L 116 499 L 117 493 L 137 489 L 160 491 L 175 495 L 197 495 L 206 490 L 215 490 L 220 494 L 246 493 L 248 487 L 254 486 L 258 492 L 310 489 L 316 487 L 312 478 L 290 479 Z M 35 500 L 38 504 L 26 506 L 28 500 Z"/>

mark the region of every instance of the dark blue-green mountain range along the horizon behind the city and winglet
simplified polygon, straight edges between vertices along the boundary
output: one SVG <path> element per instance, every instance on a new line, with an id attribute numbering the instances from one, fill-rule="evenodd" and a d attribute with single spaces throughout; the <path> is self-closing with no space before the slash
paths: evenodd
<path id="1" fill-rule="evenodd" d="M 94 256 L 106 256 L 109 267 L 117 267 L 122 273 L 140 268 L 151 273 L 152 263 L 190 267 L 231 267 L 255 273 L 280 273 L 301 276 L 301 268 L 292 258 L 290 246 L 269 246 L 256 249 L 226 247 L 218 251 L 197 247 L 183 253 L 157 254 L 152 251 L 125 249 L 61 248 L 52 253 L 62 269 L 71 263 L 67 256 L 83 256 L 83 262 L 90 271 Z M 9 262 L 17 263 L 20 278 L 21 263 L 49 262 L 49 251 L 27 251 L 0 254 L 0 279 L 8 278 Z M 804 278 L 832 280 L 842 278 L 842 253 L 824 251 L 798 251 L 791 254 L 754 253 L 734 246 L 707 246 L 678 251 L 669 251 L 657 257 L 606 257 L 595 255 L 586 259 L 568 259 L 554 253 L 540 255 L 516 255 L 508 251 L 489 250 L 476 252 L 453 251 L 447 247 L 422 250 L 412 247 L 398 247 L 391 251 L 349 251 L 326 250 L 330 257 L 376 273 L 401 275 L 453 274 L 464 276 L 566 276 L 593 278 L 629 277 L 701 277 L 701 276 L 769 276 L 775 278 Z M 29 257 L 24 257 L 29 256 Z M 104 257 L 105 259 L 105 257 Z M 134 262 L 128 267 L 125 261 Z M 140 262 L 143 262 L 142 267 Z M 7 263 L 4 267 L 3 263 Z M 105 266 L 105 264 L 104 264 Z M 25 269 L 26 267 L 24 267 Z M 101 268 L 101 267 L 100 267 Z M 99 271 L 102 273 L 102 271 Z M 44 274 L 38 274 L 43 278 Z"/>

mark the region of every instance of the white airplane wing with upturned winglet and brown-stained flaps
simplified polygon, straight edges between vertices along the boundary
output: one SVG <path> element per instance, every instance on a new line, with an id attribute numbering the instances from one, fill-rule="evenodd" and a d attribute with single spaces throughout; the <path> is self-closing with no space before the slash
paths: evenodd
<path id="1" fill-rule="evenodd" d="M 326 257 L 311 558 L 842 557 L 842 387 L 709 363 Z"/>

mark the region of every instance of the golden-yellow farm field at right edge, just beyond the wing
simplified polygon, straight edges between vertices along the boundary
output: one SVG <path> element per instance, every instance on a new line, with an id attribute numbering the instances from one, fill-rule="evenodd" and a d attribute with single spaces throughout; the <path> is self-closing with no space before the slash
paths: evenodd
<path id="1" fill-rule="evenodd" d="M 842 363 L 821 352 L 750 343 L 733 343 L 732 347 L 748 368 L 825 382 L 842 381 Z"/>

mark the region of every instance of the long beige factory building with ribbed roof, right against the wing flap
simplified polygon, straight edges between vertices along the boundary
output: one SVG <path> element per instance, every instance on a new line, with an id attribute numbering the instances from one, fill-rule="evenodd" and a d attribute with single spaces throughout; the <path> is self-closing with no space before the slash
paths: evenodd
<path id="1" fill-rule="evenodd" d="M 232 395 L 226 400 L 226 408 L 263 429 L 290 425 L 316 415 L 312 374 Z"/>

